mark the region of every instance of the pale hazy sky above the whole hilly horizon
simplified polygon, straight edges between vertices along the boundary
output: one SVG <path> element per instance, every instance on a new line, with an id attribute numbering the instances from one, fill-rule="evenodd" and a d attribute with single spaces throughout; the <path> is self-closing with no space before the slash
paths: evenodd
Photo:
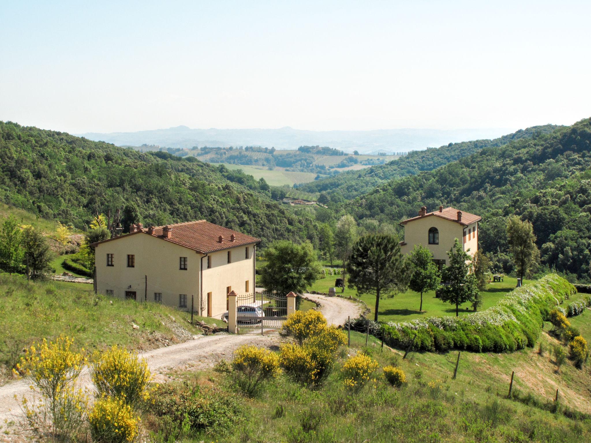
<path id="1" fill-rule="evenodd" d="M 0 0 L 0 120 L 73 133 L 570 124 L 591 116 L 590 17 L 589 1 Z"/>

